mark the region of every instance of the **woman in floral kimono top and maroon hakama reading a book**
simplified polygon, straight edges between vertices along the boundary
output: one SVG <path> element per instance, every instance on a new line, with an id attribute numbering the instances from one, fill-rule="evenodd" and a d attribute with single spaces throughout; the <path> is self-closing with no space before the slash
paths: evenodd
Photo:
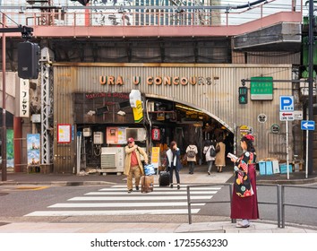
<path id="1" fill-rule="evenodd" d="M 241 157 L 235 158 L 236 156 L 228 155 L 231 161 L 235 163 L 236 172 L 230 217 L 231 219 L 242 219 L 242 221 L 237 222 L 236 228 L 248 228 L 250 226 L 250 220 L 259 219 L 258 199 L 256 195 L 256 153 L 253 147 L 253 141 L 253 135 L 244 135 L 241 139 L 241 148 L 244 150 Z M 240 182 L 244 185 L 246 177 L 248 178 L 249 184 L 239 187 L 236 186 L 236 183 L 239 184 Z M 245 190 L 247 190 L 247 193 L 244 193 Z"/>

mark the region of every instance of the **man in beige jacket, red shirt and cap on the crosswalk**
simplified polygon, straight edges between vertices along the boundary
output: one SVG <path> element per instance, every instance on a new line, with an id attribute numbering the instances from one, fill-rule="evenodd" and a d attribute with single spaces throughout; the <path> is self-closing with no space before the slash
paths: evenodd
<path id="1" fill-rule="evenodd" d="M 144 175 L 143 165 L 140 154 L 144 157 L 145 164 L 148 164 L 148 155 L 138 147 L 133 138 L 128 139 L 128 145 L 125 146 L 124 175 L 127 176 L 126 185 L 128 193 L 133 191 L 133 176 L 135 178 L 135 190 L 139 190 L 141 176 Z"/>

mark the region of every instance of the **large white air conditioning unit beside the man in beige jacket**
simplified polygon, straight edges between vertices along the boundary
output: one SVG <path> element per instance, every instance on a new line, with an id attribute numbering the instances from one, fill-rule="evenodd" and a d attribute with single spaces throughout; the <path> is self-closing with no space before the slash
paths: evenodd
<path id="1" fill-rule="evenodd" d="M 101 148 L 101 172 L 124 172 L 124 147 Z"/>

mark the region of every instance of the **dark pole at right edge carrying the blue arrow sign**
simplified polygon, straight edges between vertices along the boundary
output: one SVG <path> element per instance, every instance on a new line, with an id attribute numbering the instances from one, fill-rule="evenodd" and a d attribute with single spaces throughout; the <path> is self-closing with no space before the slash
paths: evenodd
<path id="1" fill-rule="evenodd" d="M 308 29 L 308 118 L 313 120 L 313 28 L 314 28 L 314 16 L 313 16 L 313 0 L 309 1 L 309 29 Z M 313 174 L 313 130 L 308 131 L 308 174 Z"/>

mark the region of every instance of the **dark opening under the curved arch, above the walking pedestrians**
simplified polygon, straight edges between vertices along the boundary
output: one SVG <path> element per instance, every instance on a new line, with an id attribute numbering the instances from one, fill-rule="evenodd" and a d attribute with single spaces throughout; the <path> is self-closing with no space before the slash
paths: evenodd
<path id="1" fill-rule="evenodd" d="M 222 139 L 226 144 L 226 153 L 234 151 L 234 133 L 199 108 L 173 100 L 149 98 L 146 100 L 146 115 L 151 132 L 151 145 L 166 150 L 172 140 L 176 140 L 181 153 L 193 143 L 198 147 L 197 164 L 205 161 L 203 147 L 208 142 L 217 143 Z M 155 133 L 159 130 L 159 136 Z"/>

